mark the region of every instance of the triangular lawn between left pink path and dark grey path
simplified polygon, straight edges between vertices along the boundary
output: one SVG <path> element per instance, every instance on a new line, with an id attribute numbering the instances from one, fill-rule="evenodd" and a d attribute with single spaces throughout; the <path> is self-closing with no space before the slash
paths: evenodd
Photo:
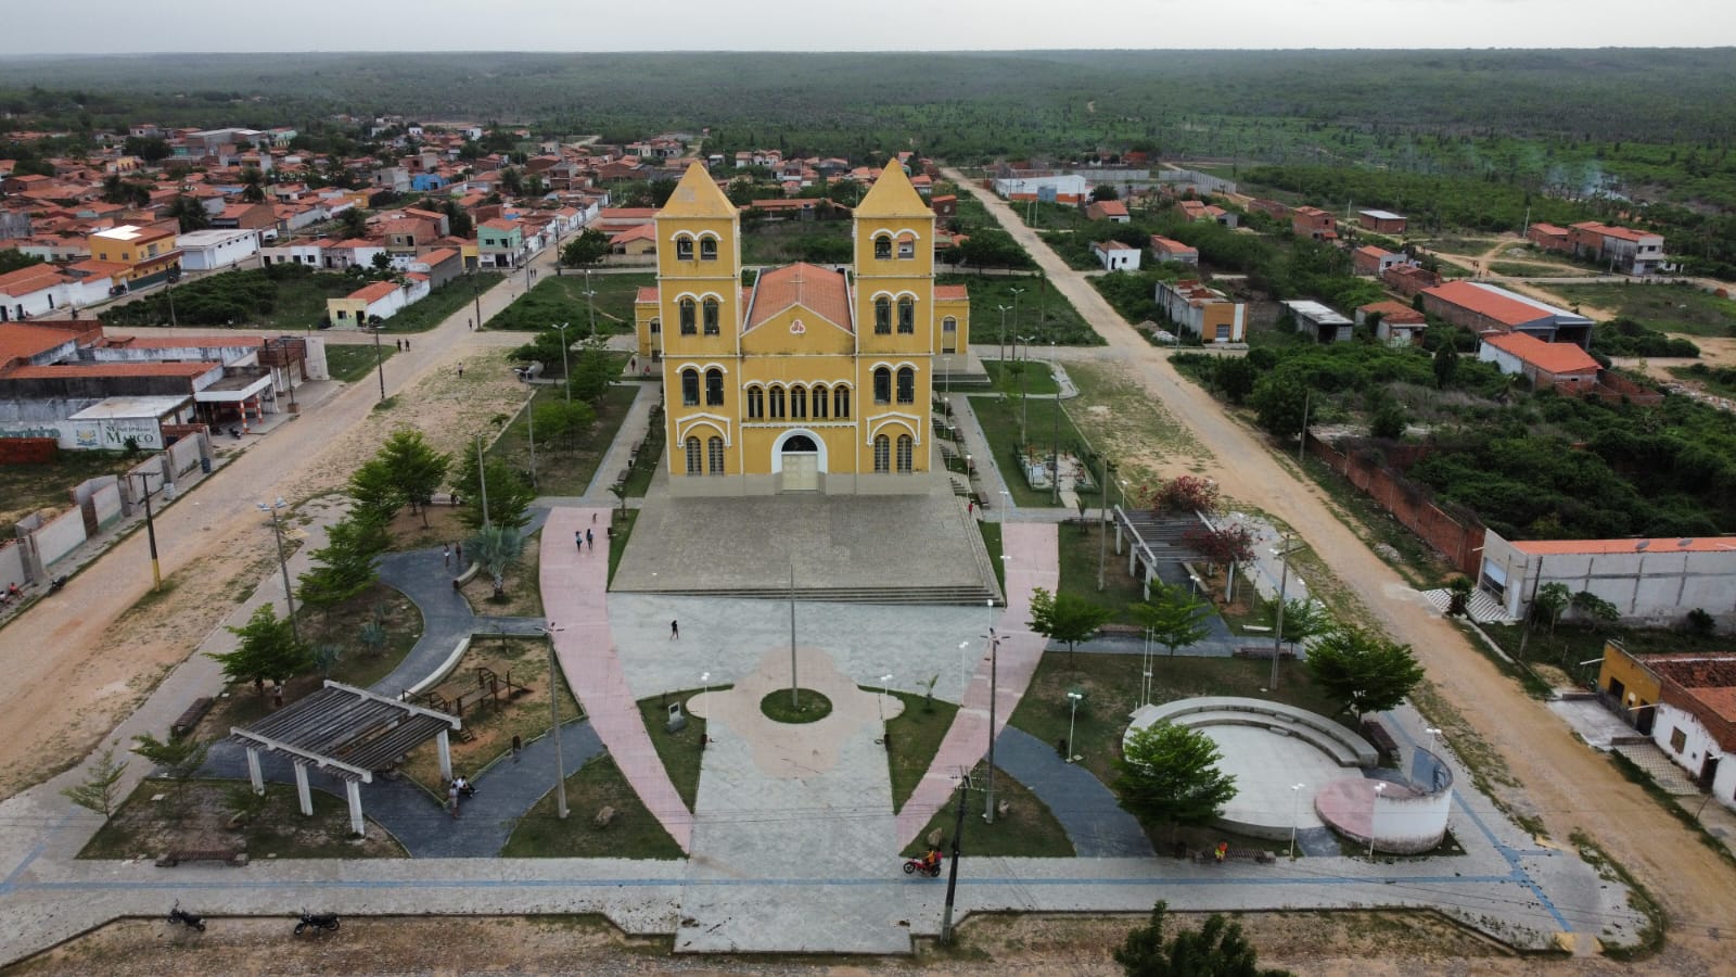
<path id="1" fill-rule="evenodd" d="M 609 754 L 566 779 L 568 819 L 556 817 L 554 791 L 519 819 L 502 859 L 681 859 L 681 845 L 646 810 Z M 606 827 L 597 812 L 615 808 Z"/>

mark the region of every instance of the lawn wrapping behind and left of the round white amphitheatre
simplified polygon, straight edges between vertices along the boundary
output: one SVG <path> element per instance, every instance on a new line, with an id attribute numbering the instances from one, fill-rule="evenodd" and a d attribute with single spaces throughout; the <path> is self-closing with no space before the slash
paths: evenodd
<path id="1" fill-rule="evenodd" d="M 1073 753 L 1080 765 L 1115 789 L 1113 761 L 1121 754 L 1121 735 L 1127 716 L 1139 706 L 1139 655 L 1101 655 L 1080 652 L 1068 662 L 1068 652 L 1049 652 L 1036 666 L 1031 687 L 1012 713 L 1012 725 L 1036 739 L 1057 744 L 1068 739 L 1068 690 L 1085 694 L 1078 708 L 1073 734 Z M 1194 695 L 1245 695 L 1250 699 L 1276 699 L 1335 716 L 1338 704 L 1321 694 L 1307 671 L 1295 662 L 1283 662 L 1278 678 L 1278 695 L 1266 690 L 1271 678 L 1271 661 L 1259 659 L 1201 659 L 1168 657 L 1156 652 L 1151 681 L 1153 702 L 1172 702 Z M 1342 720 L 1340 720 L 1342 721 Z"/>

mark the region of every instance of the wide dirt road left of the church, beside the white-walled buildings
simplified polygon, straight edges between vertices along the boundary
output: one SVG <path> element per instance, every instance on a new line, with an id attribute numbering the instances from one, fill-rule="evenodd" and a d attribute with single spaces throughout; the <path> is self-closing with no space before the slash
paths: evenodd
<path id="1" fill-rule="evenodd" d="M 545 266 L 547 254 L 538 273 Z M 521 271 L 486 292 L 484 318 L 523 287 Z M 0 629 L 0 675 L 7 676 L 0 685 L 0 796 L 82 761 L 252 591 L 276 562 L 271 523 L 257 502 L 297 502 L 340 487 L 401 424 L 450 450 L 481 431 L 507 398 L 523 396 L 505 369 L 472 370 L 462 388 L 444 369 L 458 356 L 479 365 L 488 351 L 523 342 L 470 332 L 465 320 L 474 315 L 465 306 L 439 329 L 413 336 L 411 351 L 385 363 L 387 391 L 415 389 L 413 409 L 373 410 L 378 386 L 370 377 L 250 442 L 161 509 L 158 553 L 170 586 L 161 598 L 141 603 L 151 575 L 146 537 L 137 532 Z"/>

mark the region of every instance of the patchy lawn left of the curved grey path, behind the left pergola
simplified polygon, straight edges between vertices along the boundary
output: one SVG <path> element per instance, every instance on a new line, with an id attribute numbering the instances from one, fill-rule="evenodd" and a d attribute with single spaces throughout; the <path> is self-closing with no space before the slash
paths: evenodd
<path id="1" fill-rule="evenodd" d="M 333 643 L 344 648 L 344 657 L 332 668 L 332 678 L 344 685 L 366 688 L 380 681 L 404 661 L 422 636 L 422 612 L 417 605 L 403 591 L 378 582 L 328 610 L 306 607 L 297 610 L 300 610 L 297 621 L 302 638 L 307 643 Z M 385 643 L 378 648 L 370 648 L 359 640 L 363 624 L 372 621 L 378 621 L 385 629 Z M 283 702 L 295 702 L 318 690 L 323 681 L 325 676 L 318 673 L 292 678 L 285 685 Z M 200 721 L 194 735 L 224 737 L 229 735 L 229 727 L 245 727 L 273 709 L 269 685 L 264 695 L 252 683 L 231 685 Z"/>

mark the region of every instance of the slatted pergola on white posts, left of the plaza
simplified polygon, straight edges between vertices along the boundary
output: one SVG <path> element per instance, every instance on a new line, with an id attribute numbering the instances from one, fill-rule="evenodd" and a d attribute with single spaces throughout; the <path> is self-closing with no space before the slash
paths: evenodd
<path id="1" fill-rule="evenodd" d="M 247 748 L 247 775 L 253 793 L 266 793 L 259 768 L 259 751 L 288 754 L 295 767 L 295 794 L 302 814 L 312 815 L 314 800 L 307 789 L 307 767 L 319 767 L 344 781 L 349 796 L 349 827 L 363 833 L 361 784 L 372 784 L 375 770 L 384 770 L 399 756 L 429 739 L 439 742 L 439 772 L 451 779 L 450 735 L 464 723 L 436 709 L 411 706 L 326 680 L 325 688 L 307 695 L 247 728 L 229 728 L 229 739 Z"/>

